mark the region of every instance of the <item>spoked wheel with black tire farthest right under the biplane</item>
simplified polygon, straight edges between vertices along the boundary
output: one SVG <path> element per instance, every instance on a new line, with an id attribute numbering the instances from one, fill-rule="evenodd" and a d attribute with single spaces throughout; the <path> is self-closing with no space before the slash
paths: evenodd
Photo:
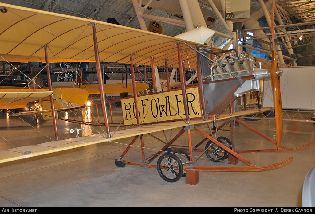
<path id="1" fill-rule="evenodd" d="M 223 141 L 220 139 L 217 139 L 217 141 L 219 141 L 221 144 L 224 144 Z M 208 147 L 209 149 L 207 149 Z M 213 161 L 213 162 L 223 161 L 224 159 L 226 159 L 226 156 L 228 154 L 226 150 L 222 149 L 220 146 L 218 146 L 211 140 L 208 141 L 205 149 L 207 149 L 206 151 L 207 157 L 209 158 L 210 161 Z"/>

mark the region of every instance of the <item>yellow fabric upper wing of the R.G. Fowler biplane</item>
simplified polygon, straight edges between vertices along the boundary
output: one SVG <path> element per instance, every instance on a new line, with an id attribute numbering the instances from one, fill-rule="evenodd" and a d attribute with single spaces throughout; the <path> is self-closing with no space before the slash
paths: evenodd
<path id="1" fill-rule="evenodd" d="M 169 65 L 178 67 L 177 54 L 171 53 L 173 49 L 176 49 L 177 40 L 185 40 L 107 22 L 0 4 L 8 10 L 6 13 L 0 13 L 2 20 L 0 40 L 3 41 L 0 55 L 37 57 L 44 62 L 42 46 L 47 44 L 50 49 L 48 51 L 50 58 L 94 61 L 90 26 L 93 22 L 97 24 L 101 61 L 129 63 L 129 54 L 134 54 L 135 64 L 151 65 L 150 58 L 154 57 L 157 65 L 163 65 L 167 57 Z M 198 44 L 185 42 L 191 46 Z M 196 69 L 194 50 L 186 44 L 182 44 L 181 48 L 183 57 L 185 54 L 185 59 L 188 58 L 191 62 L 190 67 Z M 6 57 L 6 55 L 1 56 L 4 59 Z"/>

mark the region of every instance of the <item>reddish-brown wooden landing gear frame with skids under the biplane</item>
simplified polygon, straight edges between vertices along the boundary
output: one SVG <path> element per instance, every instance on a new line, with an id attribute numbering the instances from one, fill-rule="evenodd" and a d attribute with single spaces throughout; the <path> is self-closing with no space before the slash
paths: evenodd
<path id="1" fill-rule="evenodd" d="M 266 135 L 262 134 L 261 132 L 258 132 L 257 130 L 253 129 L 252 127 L 249 127 L 247 124 L 243 123 L 242 121 L 239 121 L 236 118 L 230 118 L 229 120 L 225 121 L 220 127 L 217 128 L 217 130 L 220 130 L 224 125 L 226 125 L 226 123 L 230 121 L 231 123 L 233 121 L 237 121 L 239 124 L 244 125 L 245 127 L 249 128 L 250 130 L 258 133 L 259 135 L 261 135 L 262 137 L 270 140 L 271 142 L 274 143 L 274 140 L 272 140 L 271 138 L 267 137 Z M 198 132 L 199 134 L 203 135 L 205 138 L 199 142 L 198 144 L 196 144 L 195 147 L 192 147 L 192 138 L 191 138 L 191 130 L 194 130 L 196 132 Z M 234 127 L 231 126 L 231 136 L 232 136 L 232 140 L 233 140 L 233 144 L 234 144 Z M 215 133 L 217 130 L 215 130 L 213 133 Z M 175 140 L 177 138 L 179 138 L 182 134 L 184 134 L 185 132 L 188 132 L 188 149 L 187 148 L 179 148 L 179 147 L 172 147 L 170 149 L 170 146 L 175 142 Z M 212 133 L 212 134 L 213 134 Z M 159 155 L 161 155 L 161 153 L 165 152 L 165 153 L 170 153 L 170 154 L 174 154 L 175 149 L 181 149 L 181 150 L 186 150 L 187 151 L 187 157 L 189 157 L 189 161 L 186 161 L 183 164 L 183 171 L 187 170 L 187 172 L 190 172 L 190 170 L 194 170 L 194 171 L 205 171 L 205 172 L 213 172 L 213 171 L 221 171 L 221 172 L 258 172 L 258 171 L 266 171 L 266 170 L 272 170 L 272 169 L 276 169 L 279 167 L 282 167 L 288 163 L 290 163 L 293 158 L 292 157 L 288 157 L 287 159 L 285 159 L 284 161 L 275 163 L 275 164 L 271 164 L 271 165 L 267 165 L 267 166 L 255 166 L 254 164 L 252 164 L 250 161 L 248 161 L 247 159 L 245 159 L 243 156 L 239 155 L 239 153 L 249 153 L 249 152 L 288 152 L 288 151 L 297 151 L 300 149 L 304 149 L 310 145 L 312 145 L 313 143 L 315 143 L 315 140 L 300 146 L 300 147 L 296 147 L 296 148 L 285 148 L 284 146 L 281 147 L 281 149 L 253 149 L 253 150 L 232 150 L 230 146 L 226 146 L 225 144 L 222 144 L 222 142 L 214 139 L 213 137 L 211 137 L 210 135 L 208 135 L 207 133 L 201 131 L 198 127 L 195 126 L 186 126 L 186 127 L 182 127 L 180 129 L 180 131 L 176 134 L 176 136 L 174 138 L 172 138 L 168 143 L 165 144 L 165 146 L 163 146 L 163 148 L 161 148 L 160 150 L 158 150 L 154 155 L 152 155 L 149 158 L 145 157 L 144 154 L 144 147 L 143 147 L 143 138 L 142 135 L 140 136 L 141 139 L 141 153 L 142 153 L 142 162 L 136 162 L 136 161 L 124 161 L 122 160 L 122 158 L 124 157 L 124 155 L 128 152 L 128 150 L 130 149 L 130 147 L 135 143 L 135 140 L 138 138 L 139 136 L 135 136 L 134 139 L 131 141 L 131 143 L 129 144 L 129 146 L 125 149 L 125 151 L 123 152 L 123 154 L 115 160 L 116 166 L 120 166 L 120 167 L 125 167 L 125 165 L 134 165 L 134 166 L 143 166 L 143 167 L 149 167 L 149 168 L 160 168 L 160 169 L 165 169 L 168 168 L 169 166 L 166 165 L 161 165 L 159 162 L 157 164 L 152 164 L 152 161 L 155 160 L 155 158 L 157 158 Z M 238 160 L 242 161 L 243 163 L 245 163 L 248 166 L 242 166 L 242 167 L 237 167 L 237 166 L 229 166 L 229 167 L 213 167 L 213 166 L 193 166 L 195 161 L 197 161 L 199 159 L 199 157 L 201 155 L 203 155 L 206 151 L 211 151 L 211 148 L 205 148 L 205 149 L 197 149 L 198 146 L 200 146 L 203 142 L 205 142 L 206 140 L 211 140 L 216 146 L 223 148 L 225 151 L 228 152 L 229 156 L 229 163 L 232 164 L 236 164 L 238 162 Z M 202 154 L 199 155 L 194 161 L 192 159 L 192 152 L 201 152 Z M 165 154 L 164 153 L 164 154 Z M 171 155 L 169 155 L 171 156 Z M 174 159 L 174 158 L 173 158 Z M 187 160 L 187 159 L 186 159 Z M 236 160 L 236 161 L 235 161 Z M 175 159 L 174 159 L 175 161 Z M 179 174 L 179 173 L 177 173 Z M 187 173 L 186 173 L 187 174 Z M 193 174 L 193 173 L 192 173 Z M 175 172 L 176 175 L 176 172 Z M 195 175 L 195 174 L 194 174 Z M 162 177 L 162 176 L 161 176 Z M 163 177 L 162 177 L 163 178 Z M 164 179 L 164 178 L 163 178 Z M 180 177 L 177 179 L 179 180 Z M 188 177 L 189 179 L 189 177 Z M 165 180 L 165 179 L 164 179 Z M 176 181 L 177 181 L 176 180 Z M 174 182 L 174 181 L 169 181 L 169 182 Z M 187 175 L 186 175 L 186 183 L 187 183 Z M 198 181 L 193 181 L 190 184 L 196 184 L 198 183 Z"/>

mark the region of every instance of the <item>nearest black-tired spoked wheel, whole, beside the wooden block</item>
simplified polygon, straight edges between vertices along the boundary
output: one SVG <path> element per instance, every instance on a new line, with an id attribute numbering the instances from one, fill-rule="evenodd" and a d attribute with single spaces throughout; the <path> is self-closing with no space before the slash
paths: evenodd
<path id="1" fill-rule="evenodd" d="M 176 182 L 183 175 L 183 164 L 179 157 L 164 153 L 157 160 L 157 172 L 167 182 Z"/>

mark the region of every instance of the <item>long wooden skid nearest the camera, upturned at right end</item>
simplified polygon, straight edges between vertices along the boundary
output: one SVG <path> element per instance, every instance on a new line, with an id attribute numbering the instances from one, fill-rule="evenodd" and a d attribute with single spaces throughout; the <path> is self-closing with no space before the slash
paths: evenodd
<path id="1" fill-rule="evenodd" d="M 117 160 L 116 160 L 117 161 Z M 288 157 L 284 161 L 267 165 L 267 166 L 241 166 L 241 167 L 216 167 L 216 166 L 194 166 L 193 169 L 201 172 L 260 172 L 260 171 L 267 171 L 280 168 L 285 166 L 293 161 L 293 157 Z M 133 166 L 143 166 L 142 163 L 134 162 L 134 161 L 123 161 L 124 164 L 133 165 Z M 148 168 L 157 168 L 156 164 L 148 164 Z M 190 169 L 189 166 L 184 166 L 184 170 Z"/>

